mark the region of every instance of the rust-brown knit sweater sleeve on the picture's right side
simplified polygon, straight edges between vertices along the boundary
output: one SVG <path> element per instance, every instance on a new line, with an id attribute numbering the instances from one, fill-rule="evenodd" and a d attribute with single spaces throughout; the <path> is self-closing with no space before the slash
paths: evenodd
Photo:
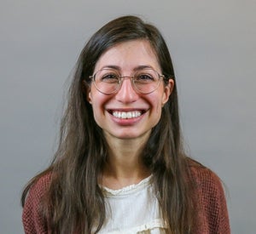
<path id="1" fill-rule="evenodd" d="M 230 220 L 221 180 L 207 168 L 194 169 L 193 174 L 197 182 L 200 233 L 230 234 Z"/>

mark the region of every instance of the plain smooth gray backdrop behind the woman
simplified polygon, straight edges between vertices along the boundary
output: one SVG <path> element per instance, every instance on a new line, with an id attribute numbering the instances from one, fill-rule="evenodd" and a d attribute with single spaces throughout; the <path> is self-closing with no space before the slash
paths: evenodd
<path id="1" fill-rule="evenodd" d="M 53 156 L 67 77 L 122 14 L 163 32 L 187 149 L 224 181 L 232 233 L 255 233 L 255 12 L 253 0 L 1 0 L 0 233 L 23 233 L 20 192 Z"/>

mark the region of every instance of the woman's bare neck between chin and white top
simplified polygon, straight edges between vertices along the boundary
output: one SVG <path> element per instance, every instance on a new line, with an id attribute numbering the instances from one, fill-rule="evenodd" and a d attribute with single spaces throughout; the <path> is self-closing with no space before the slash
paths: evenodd
<path id="1" fill-rule="evenodd" d="M 109 140 L 108 162 L 103 168 L 102 185 L 119 189 L 137 184 L 150 174 L 142 160 L 147 140 Z"/>

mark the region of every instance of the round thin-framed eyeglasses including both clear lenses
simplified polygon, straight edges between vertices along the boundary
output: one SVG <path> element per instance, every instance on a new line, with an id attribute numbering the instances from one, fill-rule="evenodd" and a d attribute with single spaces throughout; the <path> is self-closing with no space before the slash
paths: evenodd
<path id="1" fill-rule="evenodd" d="M 119 91 L 125 78 L 131 79 L 132 87 L 141 94 L 150 94 L 156 90 L 164 78 L 151 68 L 140 69 L 132 76 L 121 76 L 119 71 L 106 68 L 90 76 L 96 89 L 102 94 L 114 94 Z"/>

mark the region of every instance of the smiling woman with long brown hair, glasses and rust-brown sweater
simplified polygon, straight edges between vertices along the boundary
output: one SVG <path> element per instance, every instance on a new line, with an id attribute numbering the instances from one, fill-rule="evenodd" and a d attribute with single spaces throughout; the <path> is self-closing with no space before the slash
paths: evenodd
<path id="1" fill-rule="evenodd" d="M 183 153 L 166 43 L 135 16 L 79 56 L 49 168 L 22 195 L 26 233 L 230 233 L 216 174 Z"/>

